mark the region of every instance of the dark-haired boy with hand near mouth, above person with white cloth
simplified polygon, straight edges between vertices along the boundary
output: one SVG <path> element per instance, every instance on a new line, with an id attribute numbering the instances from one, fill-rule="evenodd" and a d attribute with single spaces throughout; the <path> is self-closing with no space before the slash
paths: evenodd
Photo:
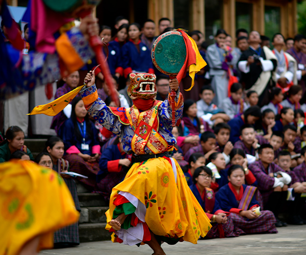
<path id="1" fill-rule="evenodd" d="M 217 150 L 223 154 L 225 163 L 228 164 L 230 162 L 228 155 L 233 149 L 233 144 L 228 141 L 230 139 L 231 127 L 226 123 L 219 123 L 214 127 L 214 133 L 217 145 L 219 146 Z"/>

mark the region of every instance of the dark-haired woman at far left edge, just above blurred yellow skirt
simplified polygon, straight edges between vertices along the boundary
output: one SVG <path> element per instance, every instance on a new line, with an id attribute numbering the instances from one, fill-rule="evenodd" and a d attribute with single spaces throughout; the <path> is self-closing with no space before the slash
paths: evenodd
<path id="1" fill-rule="evenodd" d="M 24 133 L 19 126 L 10 126 L 5 133 L 5 140 L 0 145 L 0 163 L 10 160 L 16 150 L 27 152 L 31 160 L 33 155 L 24 143 Z"/>

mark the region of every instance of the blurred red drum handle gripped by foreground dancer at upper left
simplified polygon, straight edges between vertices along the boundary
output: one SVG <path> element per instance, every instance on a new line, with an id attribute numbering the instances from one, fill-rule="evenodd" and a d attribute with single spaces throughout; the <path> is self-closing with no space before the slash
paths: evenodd
<path id="1" fill-rule="evenodd" d="M 80 17 L 84 18 L 88 15 L 92 15 L 91 11 L 82 12 L 80 14 Z M 97 35 L 96 36 L 91 36 L 89 38 L 89 44 L 90 44 L 91 48 L 93 49 L 93 51 L 95 53 L 97 63 L 101 65 L 100 69 L 103 73 L 106 85 L 107 85 L 108 89 L 110 90 L 110 96 L 111 96 L 113 102 L 116 105 L 119 105 L 120 104 L 119 103 L 119 97 L 118 97 L 118 94 L 117 94 L 117 91 L 116 91 L 115 87 L 113 86 L 112 75 L 111 75 L 111 72 L 110 72 L 109 65 L 108 65 L 108 63 L 106 61 L 106 58 L 104 56 L 103 50 L 102 50 L 103 43 L 102 43 L 100 37 L 98 37 Z"/>

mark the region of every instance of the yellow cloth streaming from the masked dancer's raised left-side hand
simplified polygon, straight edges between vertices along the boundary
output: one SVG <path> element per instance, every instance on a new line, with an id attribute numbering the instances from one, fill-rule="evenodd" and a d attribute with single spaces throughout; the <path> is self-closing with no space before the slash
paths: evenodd
<path id="1" fill-rule="evenodd" d="M 48 116 L 55 116 L 64 110 L 64 108 L 72 101 L 72 99 L 80 93 L 83 87 L 84 86 L 75 88 L 49 104 L 36 106 L 32 112 L 27 115 L 45 114 Z"/>

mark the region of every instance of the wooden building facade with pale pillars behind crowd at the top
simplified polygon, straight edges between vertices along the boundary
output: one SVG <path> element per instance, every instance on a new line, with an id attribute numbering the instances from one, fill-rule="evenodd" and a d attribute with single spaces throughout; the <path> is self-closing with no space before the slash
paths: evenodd
<path id="1" fill-rule="evenodd" d="M 10 5 L 25 6 L 27 0 L 7 0 Z M 301 0 L 115 0 L 96 8 L 100 24 L 114 28 L 114 20 L 123 15 L 130 22 L 156 23 L 168 17 L 173 27 L 199 30 L 212 42 L 217 29 L 223 28 L 235 38 L 238 28 L 257 30 L 272 37 L 281 32 L 285 38 L 297 34 L 297 2 Z M 156 32 L 158 34 L 158 30 Z M 233 40 L 234 41 L 234 40 Z"/>

